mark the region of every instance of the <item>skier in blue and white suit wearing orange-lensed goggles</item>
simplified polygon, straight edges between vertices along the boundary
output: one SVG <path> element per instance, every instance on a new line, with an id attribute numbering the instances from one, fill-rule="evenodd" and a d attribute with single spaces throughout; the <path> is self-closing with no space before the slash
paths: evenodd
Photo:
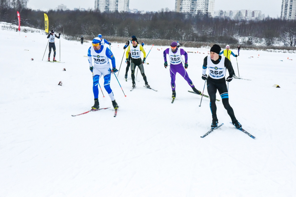
<path id="1" fill-rule="evenodd" d="M 108 92 L 110 99 L 112 100 L 112 105 L 114 109 L 118 108 L 115 101 L 114 94 L 110 88 L 111 71 L 117 72 L 115 65 L 115 57 L 109 48 L 102 45 L 101 39 L 94 38 L 92 40 L 93 47 L 89 47 L 87 58 L 89 60 L 89 70 L 92 72 L 93 76 L 93 92 L 94 92 L 94 106 L 92 109 L 99 109 L 99 79 L 101 76 L 104 77 L 104 88 Z M 94 59 L 94 65 L 93 60 Z M 110 69 L 109 59 L 112 63 L 112 70 Z"/>

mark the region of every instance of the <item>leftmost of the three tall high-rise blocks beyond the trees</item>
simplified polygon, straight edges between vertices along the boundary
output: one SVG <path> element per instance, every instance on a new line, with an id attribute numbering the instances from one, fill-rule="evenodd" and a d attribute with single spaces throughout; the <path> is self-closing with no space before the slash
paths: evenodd
<path id="1" fill-rule="evenodd" d="M 95 0 L 94 8 L 100 12 L 128 12 L 129 0 Z"/>

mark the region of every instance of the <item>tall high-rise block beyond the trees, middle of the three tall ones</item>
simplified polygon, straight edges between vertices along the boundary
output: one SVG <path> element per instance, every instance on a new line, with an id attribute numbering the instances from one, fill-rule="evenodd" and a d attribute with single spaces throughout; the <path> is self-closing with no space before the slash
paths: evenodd
<path id="1" fill-rule="evenodd" d="M 214 14 L 215 0 L 175 0 L 175 12 Z"/>

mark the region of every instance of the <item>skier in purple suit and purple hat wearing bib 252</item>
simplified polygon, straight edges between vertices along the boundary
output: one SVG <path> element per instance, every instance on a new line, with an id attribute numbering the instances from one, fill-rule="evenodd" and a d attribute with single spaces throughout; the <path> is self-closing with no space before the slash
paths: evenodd
<path id="1" fill-rule="evenodd" d="M 176 80 L 176 74 L 177 72 L 184 77 L 184 79 L 188 82 L 188 84 L 190 85 L 190 87 L 192 88 L 192 90 L 194 92 L 196 92 L 197 94 L 201 95 L 202 93 L 197 90 L 191 79 L 189 78 L 187 72 L 185 69 L 188 68 L 188 63 L 187 63 L 187 58 L 188 55 L 186 53 L 186 51 L 184 51 L 184 49 L 181 48 L 177 48 L 178 43 L 176 42 L 172 42 L 170 44 L 170 48 L 167 48 L 163 51 L 163 58 L 165 60 L 165 68 L 168 66 L 168 62 L 167 62 L 167 54 L 169 56 L 169 62 L 170 62 L 170 79 L 171 79 L 171 87 L 172 87 L 172 91 L 173 91 L 173 95 L 172 98 L 176 97 L 176 84 L 175 84 L 175 80 Z M 185 65 L 183 66 L 182 64 L 182 55 L 185 56 Z M 185 69 L 184 69 L 185 67 Z"/>

